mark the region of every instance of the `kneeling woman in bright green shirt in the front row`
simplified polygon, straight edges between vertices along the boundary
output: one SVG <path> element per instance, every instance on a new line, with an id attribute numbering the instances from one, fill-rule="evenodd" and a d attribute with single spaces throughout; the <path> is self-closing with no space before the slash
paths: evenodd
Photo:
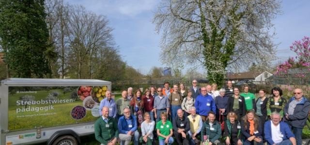
<path id="1" fill-rule="evenodd" d="M 161 120 L 158 121 L 156 124 L 159 145 L 172 145 L 174 141 L 172 138 L 172 123 L 167 120 L 166 112 L 162 112 L 160 114 L 160 117 Z"/>

